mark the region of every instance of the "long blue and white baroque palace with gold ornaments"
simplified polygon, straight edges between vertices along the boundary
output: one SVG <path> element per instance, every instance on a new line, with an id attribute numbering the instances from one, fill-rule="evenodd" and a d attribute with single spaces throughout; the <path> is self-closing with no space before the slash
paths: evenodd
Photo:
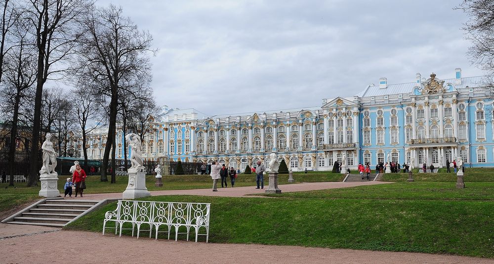
<path id="1" fill-rule="evenodd" d="M 482 80 L 462 78 L 459 68 L 453 79 L 417 73 L 413 82 L 388 84 L 381 78 L 352 97 L 323 99 L 320 107 L 242 115 L 165 106 L 143 140 L 143 157 L 219 160 L 241 170 L 268 162 L 272 152 L 294 171 L 331 170 L 343 157 L 350 168 L 387 160 L 441 168 L 457 157 L 467 167 L 493 167 L 493 95 Z M 90 137 L 89 159 L 102 158 L 104 132 Z M 123 158 L 121 131 L 117 137 Z"/>

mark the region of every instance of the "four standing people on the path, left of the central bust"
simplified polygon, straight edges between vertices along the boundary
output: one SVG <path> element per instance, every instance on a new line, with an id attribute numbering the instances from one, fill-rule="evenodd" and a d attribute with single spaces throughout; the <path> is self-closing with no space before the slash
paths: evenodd
<path id="1" fill-rule="evenodd" d="M 261 161 L 257 161 L 257 167 L 255 168 L 255 174 L 256 174 L 256 183 L 257 187 L 256 189 L 264 189 L 264 172 L 266 171 L 266 168 L 264 167 L 264 164 L 262 164 Z M 223 186 L 226 188 L 228 187 L 227 183 L 227 178 L 230 176 L 230 183 L 232 184 L 232 187 L 235 186 L 235 179 L 237 178 L 238 174 L 235 168 L 231 167 L 230 170 L 225 167 L 225 164 L 219 165 L 216 161 L 213 161 L 211 163 L 211 179 L 213 180 L 213 192 L 217 192 L 217 184 L 218 180 L 221 178 L 221 188 Z"/>

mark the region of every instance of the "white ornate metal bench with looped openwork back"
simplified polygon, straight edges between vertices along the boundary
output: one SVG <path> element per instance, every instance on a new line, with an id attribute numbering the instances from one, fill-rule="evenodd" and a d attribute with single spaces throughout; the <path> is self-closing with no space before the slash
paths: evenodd
<path id="1" fill-rule="evenodd" d="M 142 231 L 149 231 L 149 238 L 151 238 L 153 228 L 155 228 L 156 239 L 158 239 L 158 233 L 168 233 L 168 239 L 170 239 L 170 231 L 174 227 L 175 241 L 177 241 L 178 234 L 187 234 L 187 241 L 189 241 L 189 231 L 191 227 L 194 227 L 196 242 L 199 235 L 205 235 L 207 243 L 209 238 L 210 207 L 211 204 L 206 203 L 119 200 L 117 209 L 108 211 L 105 214 L 103 235 L 106 228 L 115 228 L 115 234 L 120 229 L 120 236 L 122 236 L 122 230 L 132 229 L 132 236 L 134 236 L 134 228 L 137 226 L 137 238 L 139 238 L 141 225 L 146 224 L 149 229 Z M 106 227 L 108 221 L 115 222 L 115 227 Z M 125 223 L 130 223 L 132 228 L 124 228 Z M 160 226 L 162 225 L 167 227 L 166 231 L 160 231 Z M 184 226 L 187 232 L 179 232 L 181 226 Z M 199 233 L 201 227 L 206 229 L 205 234 Z"/>

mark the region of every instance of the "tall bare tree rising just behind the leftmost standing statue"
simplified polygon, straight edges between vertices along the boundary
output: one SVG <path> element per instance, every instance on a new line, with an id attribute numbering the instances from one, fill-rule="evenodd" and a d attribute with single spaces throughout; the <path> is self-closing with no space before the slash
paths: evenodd
<path id="1" fill-rule="evenodd" d="M 41 102 L 48 78 L 62 78 L 81 36 L 81 22 L 92 2 L 88 0 L 24 0 L 24 18 L 30 21 L 38 50 L 33 138 L 28 186 L 38 184 Z"/>

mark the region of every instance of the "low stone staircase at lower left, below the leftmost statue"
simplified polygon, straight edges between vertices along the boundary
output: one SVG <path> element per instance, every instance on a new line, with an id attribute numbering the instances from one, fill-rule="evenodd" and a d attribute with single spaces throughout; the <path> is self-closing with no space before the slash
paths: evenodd
<path id="1" fill-rule="evenodd" d="M 105 201 L 43 199 L 2 222 L 63 227 Z"/>

